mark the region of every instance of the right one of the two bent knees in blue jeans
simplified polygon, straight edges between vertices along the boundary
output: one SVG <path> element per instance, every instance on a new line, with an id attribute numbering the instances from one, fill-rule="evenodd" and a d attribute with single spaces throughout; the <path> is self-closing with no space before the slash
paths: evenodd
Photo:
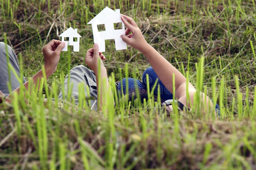
<path id="1" fill-rule="evenodd" d="M 172 99 L 172 93 L 164 86 L 164 84 L 160 81 L 160 79 L 158 78 L 158 76 L 156 75 L 156 72 L 153 70 L 152 67 L 148 67 L 143 75 L 142 75 L 142 83 L 145 87 L 147 87 L 147 77 L 146 75 L 148 74 L 148 80 L 149 80 L 149 88 L 152 89 L 156 79 L 158 79 L 158 83 L 156 84 L 156 88 L 154 90 L 154 95 L 157 96 L 157 88 L 158 88 L 158 84 L 160 85 L 160 97 L 161 99 L 163 99 L 164 101 Z"/>

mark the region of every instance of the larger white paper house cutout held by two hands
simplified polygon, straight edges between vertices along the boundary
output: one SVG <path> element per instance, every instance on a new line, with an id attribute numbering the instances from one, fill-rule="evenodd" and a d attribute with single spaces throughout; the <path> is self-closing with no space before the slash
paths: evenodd
<path id="1" fill-rule="evenodd" d="M 122 23 L 122 29 L 114 28 L 114 23 Z M 125 35 L 124 23 L 121 20 L 120 9 L 116 11 L 106 7 L 87 24 L 92 24 L 94 43 L 99 45 L 99 52 L 105 52 L 105 40 L 115 39 L 116 50 L 127 49 L 120 35 Z M 98 31 L 97 25 L 105 25 L 105 31 Z"/>

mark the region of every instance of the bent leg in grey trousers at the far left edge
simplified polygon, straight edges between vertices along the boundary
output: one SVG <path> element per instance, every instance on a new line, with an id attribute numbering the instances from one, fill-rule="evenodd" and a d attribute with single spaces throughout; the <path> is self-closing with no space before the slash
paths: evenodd
<path id="1" fill-rule="evenodd" d="M 11 82 L 12 91 L 16 88 L 20 87 L 20 82 L 18 81 L 17 77 L 14 75 L 14 73 L 10 70 L 11 76 L 9 80 L 8 75 L 8 67 L 7 67 L 7 61 L 6 61 L 6 50 L 5 50 L 5 43 L 0 42 L 0 90 L 5 94 L 8 95 L 9 89 L 7 86 L 7 82 Z M 7 46 L 7 53 L 9 56 L 9 61 L 14 68 L 15 72 L 20 77 L 20 67 L 17 60 L 17 56 L 15 55 L 14 51 L 10 46 Z M 22 76 L 23 83 L 26 82 L 25 78 Z"/>

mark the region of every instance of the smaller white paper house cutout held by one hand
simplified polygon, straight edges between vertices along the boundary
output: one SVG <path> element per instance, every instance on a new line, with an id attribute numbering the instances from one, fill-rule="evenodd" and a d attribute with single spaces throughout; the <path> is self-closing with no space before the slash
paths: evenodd
<path id="1" fill-rule="evenodd" d="M 77 29 L 73 29 L 72 27 L 69 27 L 66 31 L 64 31 L 62 34 L 60 34 L 61 41 L 65 42 L 66 45 L 62 49 L 62 51 L 68 51 L 68 46 L 73 46 L 73 51 L 78 52 L 79 51 L 79 43 L 80 43 L 80 37 L 77 33 Z M 65 41 L 64 37 L 68 37 L 69 40 Z M 74 41 L 74 38 L 77 38 L 77 41 Z"/>

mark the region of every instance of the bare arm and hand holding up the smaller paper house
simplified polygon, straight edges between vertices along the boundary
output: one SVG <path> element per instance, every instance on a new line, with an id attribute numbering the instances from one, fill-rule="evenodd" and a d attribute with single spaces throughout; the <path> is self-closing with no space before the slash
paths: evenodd
<path id="1" fill-rule="evenodd" d="M 52 40 L 47 45 L 43 47 L 43 54 L 44 54 L 44 68 L 45 68 L 45 74 L 46 78 L 48 79 L 57 69 L 57 64 L 60 60 L 60 52 L 64 48 L 65 43 L 59 41 L 59 40 Z M 33 85 L 36 85 L 37 82 L 41 82 L 41 79 L 43 78 L 43 71 L 38 71 L 30 81 L 32 81 Z M 28 89 L 29 81 L 25 82 L 23 86 L 28 90 L 29 93 L 31 93 L 32 89 Z M 32 86 L 33 88 L 33 86 Z M 13 90 L 12 93 L 10 93 L 6 98 L 5 102 L 11 102 L 11 97 L 14 92 L 20 93 L 20 87 Z M 1 92 L 2 93 L 2 92 Z M 1 95 L 1 94 L 0 94 Z"/>

